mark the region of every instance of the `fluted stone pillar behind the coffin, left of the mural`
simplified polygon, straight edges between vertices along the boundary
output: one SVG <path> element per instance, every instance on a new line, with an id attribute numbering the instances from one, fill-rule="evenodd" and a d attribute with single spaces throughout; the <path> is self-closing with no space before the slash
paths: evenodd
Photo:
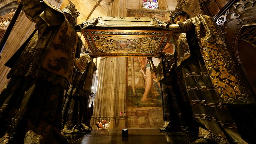
<path id="1" fill-rule="evenodd" d="M 108 16 L 126 16 L 126 0 L 109 3 Z M 108 120 L 110 128 L 125 127 L 124 112 L 126 98 L 126 57 L 102 57 L 99 64 L 99 77 L 95 95 L 93 116 L 90 125 Z"/>

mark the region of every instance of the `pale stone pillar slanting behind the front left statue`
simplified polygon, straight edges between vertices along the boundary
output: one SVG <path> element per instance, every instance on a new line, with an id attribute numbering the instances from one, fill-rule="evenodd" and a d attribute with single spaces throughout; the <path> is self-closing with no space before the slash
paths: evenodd
<path id="1" fill-rule="evenodd" d="M 63 0 L 49 0 L 53 5 L 60 7 Z M 30 34 L 35 29 L 35 23 L 31 22 L 23 13 L 13 27 L 10 36 L 8 37 L 4 49 L 1 53 L 0 60 L 0 91 L 7 84 L 9 79 L 6 75 L 9 73 L 10 68 L 4 66 L 4 64 L 11 58 L 11 56 L 19 49 L 19 47 L 26 41 Z"/>

